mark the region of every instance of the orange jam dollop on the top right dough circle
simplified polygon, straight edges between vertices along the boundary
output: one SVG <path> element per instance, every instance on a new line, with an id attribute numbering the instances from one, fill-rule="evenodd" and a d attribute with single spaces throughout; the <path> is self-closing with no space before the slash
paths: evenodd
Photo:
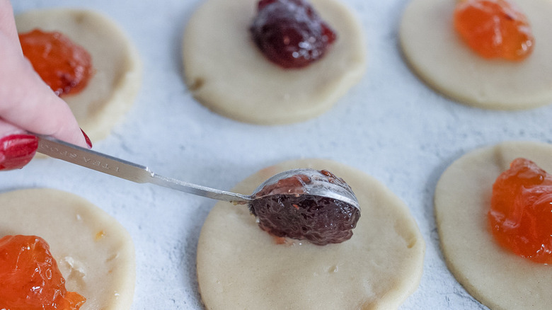
<path id="1" fill-rule="evenodd" d="M 461 0 L 454 28 L 472 50 L 485 58 L 520 61 L 531 54 L 534 38 L 524 13 L 506 0 Z"/>

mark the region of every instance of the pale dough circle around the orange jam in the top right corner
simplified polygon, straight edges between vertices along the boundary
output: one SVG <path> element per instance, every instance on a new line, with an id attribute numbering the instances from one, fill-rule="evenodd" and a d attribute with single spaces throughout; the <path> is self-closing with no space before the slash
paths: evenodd
<path id="1" fill-rule="evenodd" d="M 454 30 L 456 1 L 412 0 L 403 13 L 399 38 L 410 67 L 429 86 L 478 108 L 517 110 L 552 103 L 552 1 L 514 0 L 535 38 L 522 62 L 484 59 Z"/>

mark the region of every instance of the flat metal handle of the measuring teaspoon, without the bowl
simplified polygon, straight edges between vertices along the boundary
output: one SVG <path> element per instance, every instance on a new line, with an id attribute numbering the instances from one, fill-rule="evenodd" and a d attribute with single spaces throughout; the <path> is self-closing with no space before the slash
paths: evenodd
<path id="1" fill-rule="evenodd" d="M 200 195 L 238 204 L 248 203 L 251 200 L 251 197 L 248 195 L 207 188 L 202 185 L 196 185 L 174 178 L 166 178 L 149 170 L 148 167 L 137 163 L 117 159 L 116 157 L 85 149 L 42 134 L 35 134 L 35 136 L 38 137 L 38 152 L 53 157 L 54 159 L 68 161 L 69 163 L 116 176 L 117 178 L 124 178 L 125 180 L 131 180 L 135 183 L 151 183 L 193 195 Z"/>

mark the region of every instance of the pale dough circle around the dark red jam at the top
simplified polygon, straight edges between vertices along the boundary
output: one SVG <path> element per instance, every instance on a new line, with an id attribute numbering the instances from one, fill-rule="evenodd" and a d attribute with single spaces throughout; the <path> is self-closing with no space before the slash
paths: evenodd
<path id="1" fill-rule="evenodd" d="M 276 125 L 320 115 L 357 83 L 366 67 L 357 18 L 336 0 L 311 0 L 338 35 L 326 55 L 303 69 L 282 69 L 249 33 L 257 0 L 207 0 L 183 37 L 186 84 L 216 113 L 241 122 Z"/>

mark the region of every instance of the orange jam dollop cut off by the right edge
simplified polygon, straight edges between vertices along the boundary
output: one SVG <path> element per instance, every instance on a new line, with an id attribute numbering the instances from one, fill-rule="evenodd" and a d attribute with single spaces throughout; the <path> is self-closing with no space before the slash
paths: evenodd
<path id="1" fill-rule="evenodd" d="M 552 263 L 552 175 L 514 159 L 493 185 L 488 219 L 495 241 L 536 263 Z"/>

